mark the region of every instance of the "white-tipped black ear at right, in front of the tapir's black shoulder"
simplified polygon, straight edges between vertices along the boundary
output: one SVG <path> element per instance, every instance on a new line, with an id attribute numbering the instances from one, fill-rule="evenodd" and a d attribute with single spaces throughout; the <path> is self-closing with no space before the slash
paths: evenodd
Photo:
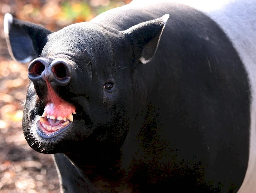
<path id="1" fill-rule="evenodd" d="M 137 61 L 146 64 L 154 57 L 169 14 L 122 31 L 132 42 Z"/>

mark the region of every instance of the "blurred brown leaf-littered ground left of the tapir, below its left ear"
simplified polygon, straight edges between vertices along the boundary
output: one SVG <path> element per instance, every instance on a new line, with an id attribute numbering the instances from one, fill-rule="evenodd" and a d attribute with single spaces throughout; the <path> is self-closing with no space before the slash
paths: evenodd
<path id="1" fill-rule="evenodd" d="M 0 192 L 60 192 L 51 155 L 27 144 L 22 132 L 22 110 L 28 85 L 28 64 L 7 54 L 0 18 Z"/>

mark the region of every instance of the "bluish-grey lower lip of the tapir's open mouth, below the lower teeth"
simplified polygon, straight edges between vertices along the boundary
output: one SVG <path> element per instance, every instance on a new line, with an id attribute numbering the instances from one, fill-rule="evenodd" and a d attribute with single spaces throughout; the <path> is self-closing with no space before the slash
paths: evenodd
<path id="1" fill-rule="evenodd" d="M 46 131 L 42 126 L 41 123 L 39 121 L 39 119 L 35 122 L 35 128 L 36 128 L 36 132 L 38 133 L 38 135 L 40 135 L 40 137 L 44 138 L 44 139 L 52 139 L 55 138 L 56 136 L 58 136 L 59 134 L 63 133 L 64 131 L 66 131 L 71 125 L 71 122 L 69 122 L 65 127 L 54 131 L 54 132 L 49 132 Z"/>

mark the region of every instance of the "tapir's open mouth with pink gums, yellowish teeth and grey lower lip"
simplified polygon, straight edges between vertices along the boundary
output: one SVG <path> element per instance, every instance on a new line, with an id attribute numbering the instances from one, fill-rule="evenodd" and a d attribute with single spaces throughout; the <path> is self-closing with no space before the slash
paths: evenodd
<path id="1" fill-rule="evenodd" d="M 36 131 L 42 138 L 53 138 L 68 129 L 73 122 L 75 107 L 56 95 L 50 85 L 45 111 L 36 122 Z"/>

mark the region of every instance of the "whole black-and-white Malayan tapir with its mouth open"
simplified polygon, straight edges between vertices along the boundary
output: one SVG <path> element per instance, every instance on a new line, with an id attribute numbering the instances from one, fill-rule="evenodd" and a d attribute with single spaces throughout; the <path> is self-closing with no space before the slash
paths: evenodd
<path id="1" fill-rule="evenodd" d="M 62 192 L 256 192 L 254 0 L 135 0 L 57 32 L 6 14 L 4 32 Z"/>

